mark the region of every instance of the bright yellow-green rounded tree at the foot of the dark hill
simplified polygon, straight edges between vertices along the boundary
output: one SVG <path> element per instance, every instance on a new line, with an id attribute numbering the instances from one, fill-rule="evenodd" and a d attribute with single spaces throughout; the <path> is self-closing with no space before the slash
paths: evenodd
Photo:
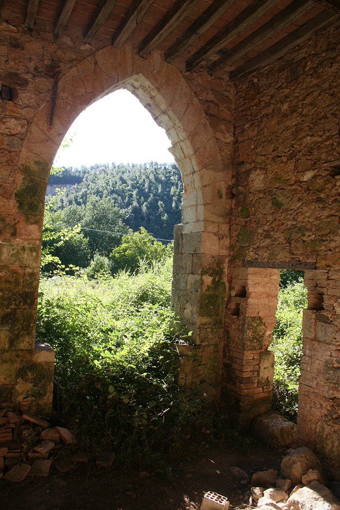
<path id="1" fill-rule="evenodd" d="M 171 245 L 170 245 L 171 246 Z M 123 236 L 121 244 L 114 248 L 110 255 L 112 270 L 117 273 L 121 270 L 138 271 L 140 261 L 151 267 L 156 261 L 170 256 L 170 250 L 148 234 L 142 226 L 133 236 Z"/>

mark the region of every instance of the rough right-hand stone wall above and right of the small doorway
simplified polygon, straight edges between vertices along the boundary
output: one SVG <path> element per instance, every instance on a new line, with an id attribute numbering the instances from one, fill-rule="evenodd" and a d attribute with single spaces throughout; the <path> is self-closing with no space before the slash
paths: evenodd
<path id="1" fill-rule="evenodd" d="M 234 292 L 234 275 L 246 267 L 305 270 L 298 438 L 333 467 L 340 461 L 339 40 L 337 25 L 238 83 L 229 263 Z M 258 281 L 271 294 L 268 278 Z M 245 323 L 242 306 L 231 322 Z"/>

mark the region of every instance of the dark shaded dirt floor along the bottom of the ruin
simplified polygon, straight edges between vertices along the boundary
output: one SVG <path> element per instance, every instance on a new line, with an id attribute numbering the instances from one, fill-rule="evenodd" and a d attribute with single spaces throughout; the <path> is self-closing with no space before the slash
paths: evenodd
<path id="1" fill-rule="evenodd" d="M 44 477 L 27 477 L 23 482 L 0 480 L 0 507 L 4 510 L 198 510 L 204 493 L 226 496 L 230 508 L 248 505 L 251 476 L 255 471 L 279 471 L 283 451 L 258 447 L 249 453 L 237 449 L 207 448 L 194 455 L 184 453 L 181 461 L 163 471 L 121 475 L 114 462 L 110 470 L 91 464 L 77 465 L 67 473 L 51 469 Z M 234 474 L 238 467 L 249 475 Z"/>

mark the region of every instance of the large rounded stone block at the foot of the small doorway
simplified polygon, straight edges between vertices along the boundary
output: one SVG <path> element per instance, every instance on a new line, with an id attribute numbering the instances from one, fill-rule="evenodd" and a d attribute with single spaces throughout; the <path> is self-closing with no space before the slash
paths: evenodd
<path id="1" fill-rule="evenodd" d="M 296 425 L 278 413 L 267 413 L 255 418 L 252 434 L 270 448 L 288 447 L 295 444 Z"/>

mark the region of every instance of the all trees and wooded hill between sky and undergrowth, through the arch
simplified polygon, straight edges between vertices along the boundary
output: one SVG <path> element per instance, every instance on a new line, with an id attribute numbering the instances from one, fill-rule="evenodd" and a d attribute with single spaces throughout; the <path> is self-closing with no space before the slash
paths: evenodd
<path id="1" fill-rule="evenodd" d="M 168 256 L 161 242 L 147 238 L 172 240 L 173 226 L 181 221 L 182 182 L 175 164 L 60 168 L 48 185 L 62 191 L 46 196 L 43 272 L 60 265 L 89 268 L 89 277 L 124 268 L 134 272 L 139 260 Z"/>

